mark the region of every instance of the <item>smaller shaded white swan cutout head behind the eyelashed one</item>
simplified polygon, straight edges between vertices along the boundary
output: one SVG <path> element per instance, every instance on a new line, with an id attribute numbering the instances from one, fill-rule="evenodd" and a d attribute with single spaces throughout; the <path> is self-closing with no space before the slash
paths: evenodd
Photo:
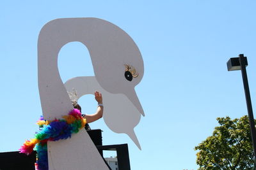
<path id="1" fill-rule="evenodd" d="M 95 90 L 102 93 L 104 103 L 104 122 L 109 129 L 116 133 L 127 134 L 141 149 L 140 142 L 134 132 L 134 127 L 140 122 L 141 114 L 124 94 L 111 94 L 100 87 L 94 76 L 81 76 L 65 83 L 68 92 L 77 91 L 78 99 L 86 94 L 93 94 Z"/>

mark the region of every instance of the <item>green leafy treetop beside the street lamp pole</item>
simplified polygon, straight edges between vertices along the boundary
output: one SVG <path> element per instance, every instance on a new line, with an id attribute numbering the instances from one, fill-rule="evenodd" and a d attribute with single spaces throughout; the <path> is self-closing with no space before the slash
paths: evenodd
<path id="1" fill-rule="evenodd" d="M 195 146 L 199 169 L 255 169 L 248 117 L 217 120 L 212 136 Z"/>

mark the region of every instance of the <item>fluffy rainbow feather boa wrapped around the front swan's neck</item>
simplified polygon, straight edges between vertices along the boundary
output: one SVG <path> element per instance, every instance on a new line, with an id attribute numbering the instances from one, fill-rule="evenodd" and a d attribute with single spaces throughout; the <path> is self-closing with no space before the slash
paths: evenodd
<path id="1" fill-rule="evenodd" d="M 41 116 L 37 121 L 39 131 L 36 132 L 35 138 L 25 141 L 19 149 L 20 153 L 29 155 L 35 148 L 37 152 L 35 167 L 38 170 L 48 170 L 47 141 L 71 138 L 72 133 L 77 133 L 86 124 L 86 119 L 77 109 L 70 111 L 68 115 L 62 118 L 49 122 Z"/>

